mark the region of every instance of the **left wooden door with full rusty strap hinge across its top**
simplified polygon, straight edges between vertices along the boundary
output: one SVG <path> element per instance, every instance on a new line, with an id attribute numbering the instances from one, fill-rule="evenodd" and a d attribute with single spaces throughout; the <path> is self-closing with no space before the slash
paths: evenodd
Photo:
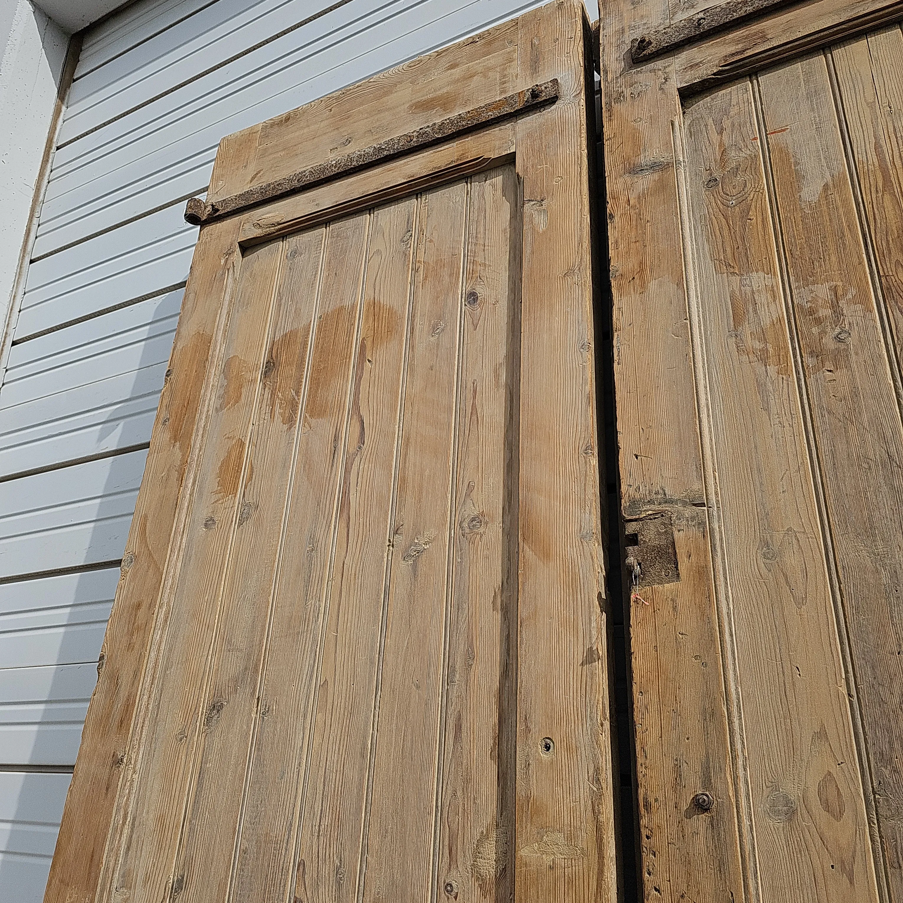
<path id="1" fill-rule="evenodd" d="M 614 898 L 587 31 L 223 140 L 47 900 Z"/>

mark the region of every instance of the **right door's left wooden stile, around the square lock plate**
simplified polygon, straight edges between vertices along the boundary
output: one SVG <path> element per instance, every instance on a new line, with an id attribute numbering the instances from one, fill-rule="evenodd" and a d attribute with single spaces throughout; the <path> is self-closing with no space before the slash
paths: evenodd
<path id="1" fill-rule="evenodd" d="M 747 822 L 736 808 L 731 672 L 712 583 L 696 414 L 672 134 L 681 112 L 673 62 L 626 65 L 630 37 L 667 21 L 667 10 L 619 4 L 601 14 L 621 513 L 628 532 L 645 517 L 672 520 L 680 574 L 679 582 L 644 588 L 626 613 L 640 872 L 648 900 L 740 900 L 749 860 L 741 866 L 738 823 Z M 706 814 L 693 807 L 699 792 L 715 800 Z"/>

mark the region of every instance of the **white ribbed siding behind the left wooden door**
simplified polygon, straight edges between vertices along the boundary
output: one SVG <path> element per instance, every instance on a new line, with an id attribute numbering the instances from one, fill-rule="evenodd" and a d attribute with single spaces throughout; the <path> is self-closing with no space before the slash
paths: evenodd
<path id="1" fill-rule="evenodd" d="M 143 0 L 86 35 L 0 390 L 4 900 L 42 898 L 40 769 L 75 761 L 219 139 L 535 5 Z"/>

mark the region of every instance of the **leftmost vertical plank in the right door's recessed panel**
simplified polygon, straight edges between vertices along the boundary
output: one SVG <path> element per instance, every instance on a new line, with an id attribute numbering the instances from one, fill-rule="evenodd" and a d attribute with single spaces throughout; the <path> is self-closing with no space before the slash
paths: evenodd
<path id="1" fill-rule="evenodd" d="M 725 603 L 737 637 L 762 895 L 874 900 L 749 81 L 694 103 L 684 130 Z"/>

